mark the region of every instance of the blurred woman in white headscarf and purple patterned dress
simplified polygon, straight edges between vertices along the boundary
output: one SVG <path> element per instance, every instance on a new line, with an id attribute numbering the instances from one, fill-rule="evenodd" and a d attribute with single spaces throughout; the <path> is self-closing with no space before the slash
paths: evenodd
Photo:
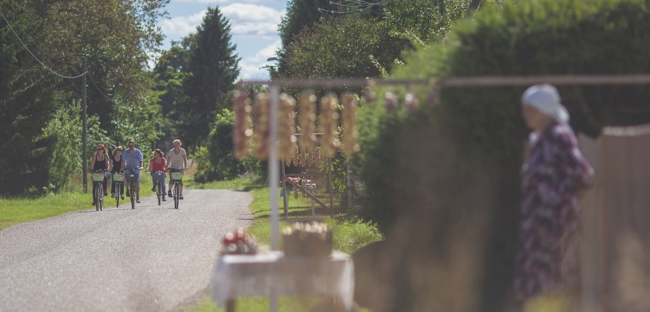
<path id="1" fill-rule="evenodd" d="M 528 88 L 521 105 L 532 132 L 521 176 L 516 295 L 526 312 L 574 311 L 579 197 L 591 186 L 593 169 L 579 150 L 553 85 Z"/>

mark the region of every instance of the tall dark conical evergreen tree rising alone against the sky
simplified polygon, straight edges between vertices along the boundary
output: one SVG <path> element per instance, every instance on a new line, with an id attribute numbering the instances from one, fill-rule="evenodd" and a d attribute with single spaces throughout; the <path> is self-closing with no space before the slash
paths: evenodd
<path id="1" fill-rule="evenodd" d="M 230 21 L 218 7 L 208 8 L 196 28 L 196 46 L 189 60 L 191 75 L 185 85 L 190 100 L 181 133 L 189 147 L 203 145 L 217 112 L 230 107 L 228 92 L 240 74 L 240 57 L 230 40 Z"/>

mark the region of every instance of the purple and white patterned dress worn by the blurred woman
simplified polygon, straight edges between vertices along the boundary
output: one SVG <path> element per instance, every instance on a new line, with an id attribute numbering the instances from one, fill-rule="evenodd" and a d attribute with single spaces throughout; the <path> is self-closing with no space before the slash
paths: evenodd
<path id="1" fill-rule="evenodd" d="M 569 126 L 551 124 L 531 145 L 521 176 L 514 285 L 522 300 L 577 283 L 577 192 L 593 182 L 593 169 Z"/>

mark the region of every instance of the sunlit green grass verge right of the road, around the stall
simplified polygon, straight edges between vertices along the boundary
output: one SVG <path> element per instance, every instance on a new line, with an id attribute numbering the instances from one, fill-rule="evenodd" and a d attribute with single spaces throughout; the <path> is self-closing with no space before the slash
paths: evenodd
<path id="1" fill-rule="evenodd" d="M 254 222 L 247 229 L 247 234 L 255 237 L 258 244 L 271 244 L 271 211 L 270 211 L 270 193 L 268 186 L 259 182 L 247 179 L 235 179 L 233 181 L 218 181 L 210 184 L 193 184 L 192 188 L 217 188 L 217 189 L 235 189 L 249 191 L 253 196 L 253 201 L 249 206 Z M 288 226 L 292 220 L 312 217 L 311 200 L 309 198 L 294 198 L 293 193 L 289 194 L 289 219 L 284 220 L 283 198 L 279 198 L 278 208 L 280 213 L 280 229 Z M 329 203 L 329 199 L 322 198 L 324 203 Z M 336 214 L 332 219 L 330 211 L 316 205 L 317 217 L 321 218 L 328 224 L 333 232 L 334 249 L 344 253 L 354 253 L 358 248 L 382 239 L 382 235 L 376 227 L 371 224 L 349 220 L 343 214 Z M 338 203 L 334 203 L 338 205 Z M 336 211 L 335 207 L 335 211 Z M 318 296 L 280 296 L 278 310 L 281 312 L 290 311 L 310 311 L 314 306 L 323 301 L 324 298 Z M 204 294 L 196 304 L 184 306 L 184 312 L 223 312 L 223 308 L 216 308 L 209 295 Z M 266 312 L 268 311 L 268 298 L 240 298 L 237 299 L 237 311 L 249 312 Z"/>

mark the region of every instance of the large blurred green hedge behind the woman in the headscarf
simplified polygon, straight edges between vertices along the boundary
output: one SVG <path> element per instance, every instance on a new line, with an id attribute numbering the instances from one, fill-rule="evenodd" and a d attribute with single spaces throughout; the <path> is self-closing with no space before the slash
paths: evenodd
<path id="1" fill-rule="evenodd" d="M 391 78 L 649 73 L 648 20 L 646 0 L 486 6 L 454 26 L 442 44 L 407 56 Z M 478 208 L 488 211 L 493 232 L 477 246 L 488 250 L 481 311 L 502 311 L 512 285 L 527 135 L 519 104 L 524 89 L 442 88 L 436 107 L 420 90 L 423 105 L 415 114 L 403 107 L 386 112 L 381 102 L 359 111 L 362 152 L 355 167 L 372 196 L 365 217 L 382 232 L 427 227 L 408 235 L 428 236 L 421 241 L 444 254 L 453 224 Z M 650 122 L 647 85 L 559 89 L 577 132 L 597 136 L 603 126 Z M 471 194 L 484 197 L 473 201 Z"/>

